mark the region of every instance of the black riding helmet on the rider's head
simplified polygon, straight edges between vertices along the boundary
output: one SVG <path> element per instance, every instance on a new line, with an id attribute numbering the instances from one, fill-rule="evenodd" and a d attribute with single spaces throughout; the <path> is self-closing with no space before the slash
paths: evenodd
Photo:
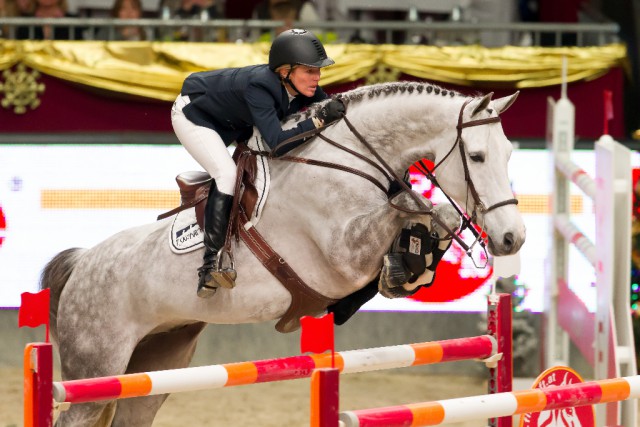
<path id="1" fill-rule="evenodd" d="M 287 30 L 273 41 L 269 51 L 269 68 L 275 71 L 281 65 L 306 65 L 326 67 L 333 65 L 324 46 L 318 38 L 307 30 Z"/>

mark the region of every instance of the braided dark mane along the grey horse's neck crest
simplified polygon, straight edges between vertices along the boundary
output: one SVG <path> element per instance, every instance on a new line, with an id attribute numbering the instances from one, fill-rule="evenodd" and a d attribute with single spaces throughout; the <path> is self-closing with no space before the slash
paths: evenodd
<path id="1" fill-rule="evenodd" d="M 387 82 L 378 83 L 368 86 L 361 86 L 350 91 L 341 93 L 336 97 L 340 99 L 346 106 L 357 104 L 366 100 L 381 98 L 385 95 L 397 93 L 406 93 L 408 95 L 441 95 L 448 97 L 464 96 L 459 92 L 444 89 L 431 83 L 421 82 Z M 312 104 L 305 111 L 292 114 L 285 118 L 286 122 L 299 122 L 315 115 L 326 101 L 320 101 Z"/>

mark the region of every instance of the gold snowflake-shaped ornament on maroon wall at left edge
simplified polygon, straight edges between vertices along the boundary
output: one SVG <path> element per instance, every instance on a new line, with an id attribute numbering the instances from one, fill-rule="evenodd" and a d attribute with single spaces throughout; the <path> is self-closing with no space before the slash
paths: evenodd
<path id="1" fill-rule="evenodd" d="M 14 113 L 24 114 L 27 108 L 34 110 L 40 105 L 38 96 L 44 92 L 45 86 L 38 83 L 38 71 L 27 70 L 24 64 L 18 64 L 15 71 L 4 70 L 2 77 L 0 94 L 4 93 L 1 101 L 4 108 L 13 108 Z"/>

